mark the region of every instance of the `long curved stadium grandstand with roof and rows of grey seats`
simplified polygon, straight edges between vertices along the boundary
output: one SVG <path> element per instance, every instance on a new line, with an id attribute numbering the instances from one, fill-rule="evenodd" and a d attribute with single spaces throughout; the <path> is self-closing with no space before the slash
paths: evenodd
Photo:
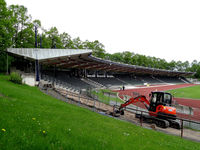
<path id="1" fill-rule="evenodd" d="M 53 83 L 73 92 L 190 83 L 186 77 L 193 74 L 104 60 L 92 56 L 88 49 L 8 48 L 7 53 L 18 57 L 10 70 L 32 73 L 35 81 Z"/>

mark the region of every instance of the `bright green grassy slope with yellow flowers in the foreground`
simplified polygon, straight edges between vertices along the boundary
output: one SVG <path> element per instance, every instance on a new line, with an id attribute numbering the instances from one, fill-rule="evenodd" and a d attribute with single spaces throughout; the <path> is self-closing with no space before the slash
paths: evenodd
<path id="1" fill-rule="evenodd" d="M 6 78 L 0 76 L 1 150 L 200 149 L 200 143 L 99 115 Z"/>

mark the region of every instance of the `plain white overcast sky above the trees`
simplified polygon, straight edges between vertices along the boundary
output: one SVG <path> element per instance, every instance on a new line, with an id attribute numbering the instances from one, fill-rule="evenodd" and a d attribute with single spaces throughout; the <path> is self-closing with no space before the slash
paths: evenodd
<path id="1" fill-rule="evenodd" d="M 200 61 L 200 0 L 6 0 L 42 26 L 99 40 L 109 53 Z"/>

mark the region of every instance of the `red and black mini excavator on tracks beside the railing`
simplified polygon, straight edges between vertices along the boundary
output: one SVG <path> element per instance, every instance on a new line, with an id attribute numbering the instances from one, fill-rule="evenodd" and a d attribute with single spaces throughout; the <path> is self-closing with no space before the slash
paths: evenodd
<path id="1" fill-rule="evenodd" d="M 137 118 L 142 118 L 144 122 L 155 123 L 158 127 L 172 127 L 180 129 L 180 122 L 176 120 L 176 108 L 172 107 L 172 95 L 167 92 L 151 92 L 150 100 L 145 96 L 130 98 L 119 108 L 115 106 L 114 113 L 124 115 L 124 109 L 130 104 L 141 102 L 148 110 L 148 114 L 136 114 Z"/>

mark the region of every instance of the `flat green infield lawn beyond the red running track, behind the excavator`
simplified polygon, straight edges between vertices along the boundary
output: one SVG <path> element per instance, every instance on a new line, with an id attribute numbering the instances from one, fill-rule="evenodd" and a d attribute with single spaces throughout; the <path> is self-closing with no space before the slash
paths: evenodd
<path id="1" fill-rule="evenodd" d="M 192 98 L 200 100 L 200 85 L 169 90 L 168 92 L 173 94 L 174 97 Z"/>

